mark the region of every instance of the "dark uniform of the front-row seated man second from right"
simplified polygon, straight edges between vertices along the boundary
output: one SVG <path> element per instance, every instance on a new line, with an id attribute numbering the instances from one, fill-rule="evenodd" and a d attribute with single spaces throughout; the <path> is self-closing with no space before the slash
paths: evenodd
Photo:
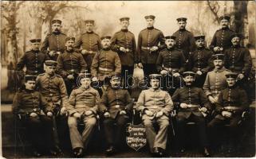
<path id="1" fill-rule="evenodd" d="M 185 145 L 185 123 L 190 121 L 198 125 L 200 145 L 206 147 L 208 145 L 205 126 L 206 121 L 202 112 L 199 111 L 199 108 L 207 107 L 207 110 L 210 110 L 211 106 L 203 90 L 199 87 L 184 86 L 183 88 L 178 88 L 174 95 L 171 96 L 171 99 L 174 103 L 179 105 L 177 114 L 179 145 Z M 180 103 L 186 103 L 191 107 L 181 108 Z"/>

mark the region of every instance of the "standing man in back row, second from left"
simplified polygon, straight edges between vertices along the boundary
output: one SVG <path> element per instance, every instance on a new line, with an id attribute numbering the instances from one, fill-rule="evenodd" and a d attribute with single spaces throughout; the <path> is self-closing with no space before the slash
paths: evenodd
<path id="1" fill-rule="evenodd" d="M 93 57 L 96 52 L 101 49 L 100 37 L 98 34 L 93 32 L 95 22 L 93 20 L 85 21 L 85 33 L 77 40 L 74 48 L 81 50 L 81 54 L 84 56 L 87 68 L 90 72 L 90 68 L 93 62 Z"/>

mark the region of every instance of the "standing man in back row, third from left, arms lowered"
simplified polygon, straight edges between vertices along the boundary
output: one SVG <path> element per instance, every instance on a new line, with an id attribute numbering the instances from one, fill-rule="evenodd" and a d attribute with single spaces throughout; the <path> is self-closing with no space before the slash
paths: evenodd
<path id="1" fill-rule="evenodd" d="M 134 64 L 138 63 L 138 56 L 136 54 L 136 41 L 134 34 L 128 31 L 129 17 L 121 17 L 121 30 L 116 32 L 112 37 L 112 50 L 117 52 L 122 64 L 121 76 L 123 86 L 125 88 L 132 88 L 132 75 Z M 131 89 L 128 89 L 130 91 Z"/>

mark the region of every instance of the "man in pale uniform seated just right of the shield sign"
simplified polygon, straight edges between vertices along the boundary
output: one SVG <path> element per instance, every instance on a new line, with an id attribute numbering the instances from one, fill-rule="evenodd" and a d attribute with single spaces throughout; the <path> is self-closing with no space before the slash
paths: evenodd
<path id="1" fill-rule="evenodd" d="M 136 106 L 142 112 L 150 152 L 156 157 L 163 157 L 165 153 L 169 114 L 173 109 L 171 96 L 160 89 L 160 77 L 158 74 L 149 76 L 151 87 L 140 93 Z M 154 129 L 154 122 L 160 126 L 158 133 Z"/>

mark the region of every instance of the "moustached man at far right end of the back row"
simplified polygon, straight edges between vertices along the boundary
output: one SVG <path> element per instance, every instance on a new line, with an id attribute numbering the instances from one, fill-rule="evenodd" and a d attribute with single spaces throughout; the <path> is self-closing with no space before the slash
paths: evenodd
<path id="1" fill-rule="evenodd" d="M 219 19 L 222 28 L 215 32 L 210 45 L 210 49 L 215 53 L 223 53 L 226 48 L 231 47 L 230 36 L 234 33 L 234 31 L 230 30 L 228 27 L 230 21 L 229 16 L 221 16 Z"/>

